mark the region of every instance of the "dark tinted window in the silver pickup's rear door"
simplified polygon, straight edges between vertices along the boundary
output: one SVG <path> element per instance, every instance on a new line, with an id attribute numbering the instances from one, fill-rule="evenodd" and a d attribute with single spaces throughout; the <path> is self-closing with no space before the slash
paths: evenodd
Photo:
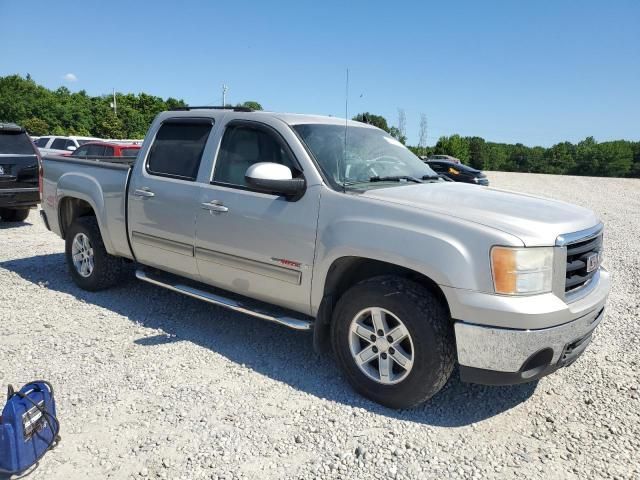
<path id="1" fill-rule="evenodd" d="M 194 181 L 212 126 L 210 119 L 164 122 L 149 151 L 147 172 Z"/>

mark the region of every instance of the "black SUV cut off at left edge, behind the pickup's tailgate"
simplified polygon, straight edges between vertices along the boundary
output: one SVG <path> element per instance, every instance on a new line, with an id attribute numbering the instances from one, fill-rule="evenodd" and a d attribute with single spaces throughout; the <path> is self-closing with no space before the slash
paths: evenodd
<path id="1" fill-rule="evenodd" d="M 21 222 L 40 203 L 40 155 L 24 128 L 0 123 L 0 217 Z"/>

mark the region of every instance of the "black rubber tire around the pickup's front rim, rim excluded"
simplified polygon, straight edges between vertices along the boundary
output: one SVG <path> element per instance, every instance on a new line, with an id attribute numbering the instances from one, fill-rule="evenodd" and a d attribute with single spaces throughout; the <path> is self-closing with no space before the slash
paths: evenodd
<path id="1" fill-rule="evenodd" d="M 351 354 L 351 321 L 369 307 L 393 313 L 411 336 L 413 366 L 399 383 L 385 385 L 372 380 Z M 345 292 L 334 310 L 331 340 L 338 364 L 353 388 L 391 408 L 409 408 L 431 398 L 447 382 L 455 365 L 453 325 L 446 307 L 429 290 L 401 277 L 372 278 Z"/>

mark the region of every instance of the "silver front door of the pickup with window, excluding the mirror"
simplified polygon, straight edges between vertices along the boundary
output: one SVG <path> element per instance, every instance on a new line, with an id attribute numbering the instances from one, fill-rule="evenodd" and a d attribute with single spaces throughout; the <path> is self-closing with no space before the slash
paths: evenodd
<path id="1" fill-rule="evenodd" d="M 201 187 L 196 222 L 200 276 L 212 285 L 309 313 L 320 186 L 308 186 L 295 201 L 257 192 L 244 178 L 257 162 L 280 163 L 295 176 L 303 175 L 276 128 L 255 121 L 228 123 L 213 180 Z"/>

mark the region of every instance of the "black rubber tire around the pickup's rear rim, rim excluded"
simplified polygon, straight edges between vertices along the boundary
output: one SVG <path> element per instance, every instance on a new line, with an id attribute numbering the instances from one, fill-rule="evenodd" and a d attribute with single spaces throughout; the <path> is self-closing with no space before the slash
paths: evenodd
<path id="1" fill-rule="evenodd" d="M 79 233 L 89 238 L 93 249 L 93 271 L 87 277 L 80 275 L 73 264 L 72 245 Z M 65 256 L 71 278 L 83 290 L 95 292 L 112 287 L 118 283 L 122 275 L 123 261 L 107 253 L 95 217 L 80 217 L 69 227 L 65 235 Z"/>

